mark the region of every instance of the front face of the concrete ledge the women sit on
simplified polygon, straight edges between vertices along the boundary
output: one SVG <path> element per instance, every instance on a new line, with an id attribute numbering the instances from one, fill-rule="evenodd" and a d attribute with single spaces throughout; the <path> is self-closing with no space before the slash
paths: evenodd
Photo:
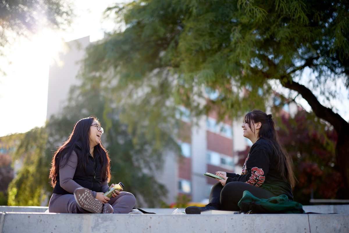
<path id="1" fill-rule="evenodd" d="M 2 213 L 0 232 L 348 232 L 348 214 Z"/>

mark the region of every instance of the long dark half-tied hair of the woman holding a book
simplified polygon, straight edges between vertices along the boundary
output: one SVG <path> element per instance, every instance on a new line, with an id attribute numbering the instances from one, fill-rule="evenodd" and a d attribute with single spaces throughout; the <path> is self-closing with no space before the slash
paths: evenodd
<path id="1" fill-rule="evenodd" d="M 275 129 L 272 115 L 267 115 L 261 110 L 253 110 L 246 114 L 244 121 L 248 124 L 250 129 L 251 122 L 261 123 L 258 137 L 270 141 L 277 155 L 276 169 L 280 172 L 282 179 L 287 180 L 293 188 L 296 184 L 296 177 L 292 169 L 292 158 L 280 143 L 279 134 Z"/>

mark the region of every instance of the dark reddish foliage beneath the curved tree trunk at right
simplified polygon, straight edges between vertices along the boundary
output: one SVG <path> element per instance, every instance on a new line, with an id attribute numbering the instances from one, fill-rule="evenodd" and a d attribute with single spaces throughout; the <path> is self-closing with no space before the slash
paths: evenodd
<path id="1" fill-rule="evenodd" d="M 348 199 L 335 158 L 337 134 L 333 127 L 304 110 L 282 122 L 285 127 L 279 130 L 280 138 L 293 158 L 298 180 L 295 200 L 310 204 L 311 189 L 315 199 Z"/>

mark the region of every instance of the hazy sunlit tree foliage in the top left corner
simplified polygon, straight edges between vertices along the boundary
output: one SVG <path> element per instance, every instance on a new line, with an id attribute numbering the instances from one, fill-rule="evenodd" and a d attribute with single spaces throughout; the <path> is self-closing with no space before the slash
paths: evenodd
<path id="1" fill-rule="evenodd" d="M 0 1 L 0 56 L 18 37 L 31 37 L 44 28 L 70 26 L 72 9 L 65 0 Z"/>

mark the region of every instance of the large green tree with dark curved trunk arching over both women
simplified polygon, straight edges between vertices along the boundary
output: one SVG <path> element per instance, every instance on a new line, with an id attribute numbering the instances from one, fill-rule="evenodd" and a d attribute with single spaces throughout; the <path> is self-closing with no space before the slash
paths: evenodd
<path id="1" fill-rule="evenodd" d="M 142 108 L 170 124 L 173 114 L 164 110 L 178 104 L 193 116 L 215 108 L 220 119 L 265 110 L 276 81 L 333 125 L 336 161 L 349 186 L 349 125 L 321 100 L 336 96 L 326 85 L 343 80 L 349 87 L 347 1 L 146 0 L 107 12 L 126 29 L 89 48 L 83 74 L 109 83 L 113 100 L 133 112 L 124 122 L 142 124 L 133 117 Z M 305 69 L 312 75 L 304 79 Z M 205 101 L 207 88 L 218 97 Z"/>

